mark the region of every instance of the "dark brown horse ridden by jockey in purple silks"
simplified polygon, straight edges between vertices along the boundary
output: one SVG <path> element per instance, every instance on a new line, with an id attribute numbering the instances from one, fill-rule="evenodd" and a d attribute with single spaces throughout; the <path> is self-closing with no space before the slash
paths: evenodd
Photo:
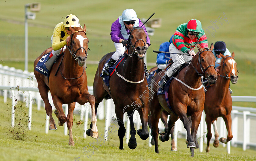
<path id="1" fill-rule="evenodd" d="M 136 130 L 133 124 L 134 110 L 138 110 L 142 129 L 137 130 L 137 134 L 141 139 L 146 140 L 148 133 L 148 101 L 150 95 L 148 93 L 148 84 L 144 74 L 144 60 L 146 48 L 147 34 L 143 28 L 134 27 L 130 33 L 130 46 L 128 49 L 127 59 L 121 61 L 119 68 L 116 68 L 109 80 L 109 88 L 100 77 L 102 69 L 106 61 L 114 52 L 106 54 L 101 58 L 97 72 L 94 77 L 93 95 L 96 98 L 95 108 L 105 98 L 112 98 L 115 104 L 115 113 L 118 121 L 119 129 L 119 149 L 123 149 L 123 138 L 125 136 L 125 127 L 123 123 L 123 115 L 127 112 L 130 120 L 130 140 L 128 146 L 130 149 L 137 147 Z M 87 135 L 90 129 L 87 130 Z"/>

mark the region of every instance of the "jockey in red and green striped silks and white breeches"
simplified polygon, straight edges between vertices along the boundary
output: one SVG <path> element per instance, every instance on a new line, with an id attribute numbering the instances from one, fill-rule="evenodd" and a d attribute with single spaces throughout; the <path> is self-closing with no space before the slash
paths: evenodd
<path id="1" fill-rule="evenodd" d="M 169 52 L 179 54 L 187 53 L 190 56 L 170 54 L 174 63 L 168 68 L 164 77 L 159 82 L 159 86 L 162 86 L 172 76 L 172 73 L 177 70 L 176 68 L 180 68 L 183 63 L 190 61 L 192 56 L 196 55 L 193 49 L 197 44 L 202 48 L 208 48 L 207 37 L 200 21 L 191 19 L 188 23 L 178 26 L 172 38 L 172 44 L 169 46 Z"/>

